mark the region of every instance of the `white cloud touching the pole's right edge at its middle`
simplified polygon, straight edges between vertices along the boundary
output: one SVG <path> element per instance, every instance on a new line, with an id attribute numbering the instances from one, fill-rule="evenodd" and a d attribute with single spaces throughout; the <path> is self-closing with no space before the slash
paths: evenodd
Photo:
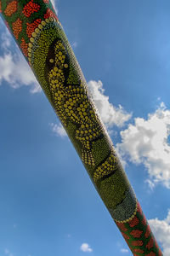
<path id="1" fill-rule="evenodd" d="M 89 81 L 88 88 L 98 108 L 100 117 L 108 128 L 113 125 L 122 127 L 131 118 L 132 113 L 127 113 L 121 105 L 116 108 L 109 102 L 109 96 L 105 96 L 105 90 L 101 81 Z"/>

